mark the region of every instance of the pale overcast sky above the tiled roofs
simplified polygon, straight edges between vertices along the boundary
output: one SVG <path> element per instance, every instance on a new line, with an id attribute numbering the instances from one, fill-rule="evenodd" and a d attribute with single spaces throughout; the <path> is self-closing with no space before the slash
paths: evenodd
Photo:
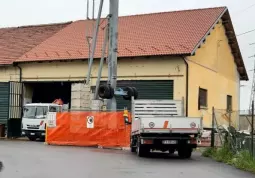
<path id="1" fill-rule="evenodd" d="M 45 24 L 84 19 L 87 0 L 1 0 L 0 27 Z M 92 1 L 92 0 L 91 0 Z M 98 4 L 99 0 L 96 0 Z M 105 0 L 103 15 L 108 13 Z M 236 34 L 255 29 L 254 0 L 120 0 L 120 15 L 227 6 Z M 98 6 L 97 6 L 98 7 Z M 250 20 L 249 20 L 250 19 Z M 238 37 L 250 81 L 241 87 L 241 109 L 248 109 L 255 58 L 255 32 Z"/>

